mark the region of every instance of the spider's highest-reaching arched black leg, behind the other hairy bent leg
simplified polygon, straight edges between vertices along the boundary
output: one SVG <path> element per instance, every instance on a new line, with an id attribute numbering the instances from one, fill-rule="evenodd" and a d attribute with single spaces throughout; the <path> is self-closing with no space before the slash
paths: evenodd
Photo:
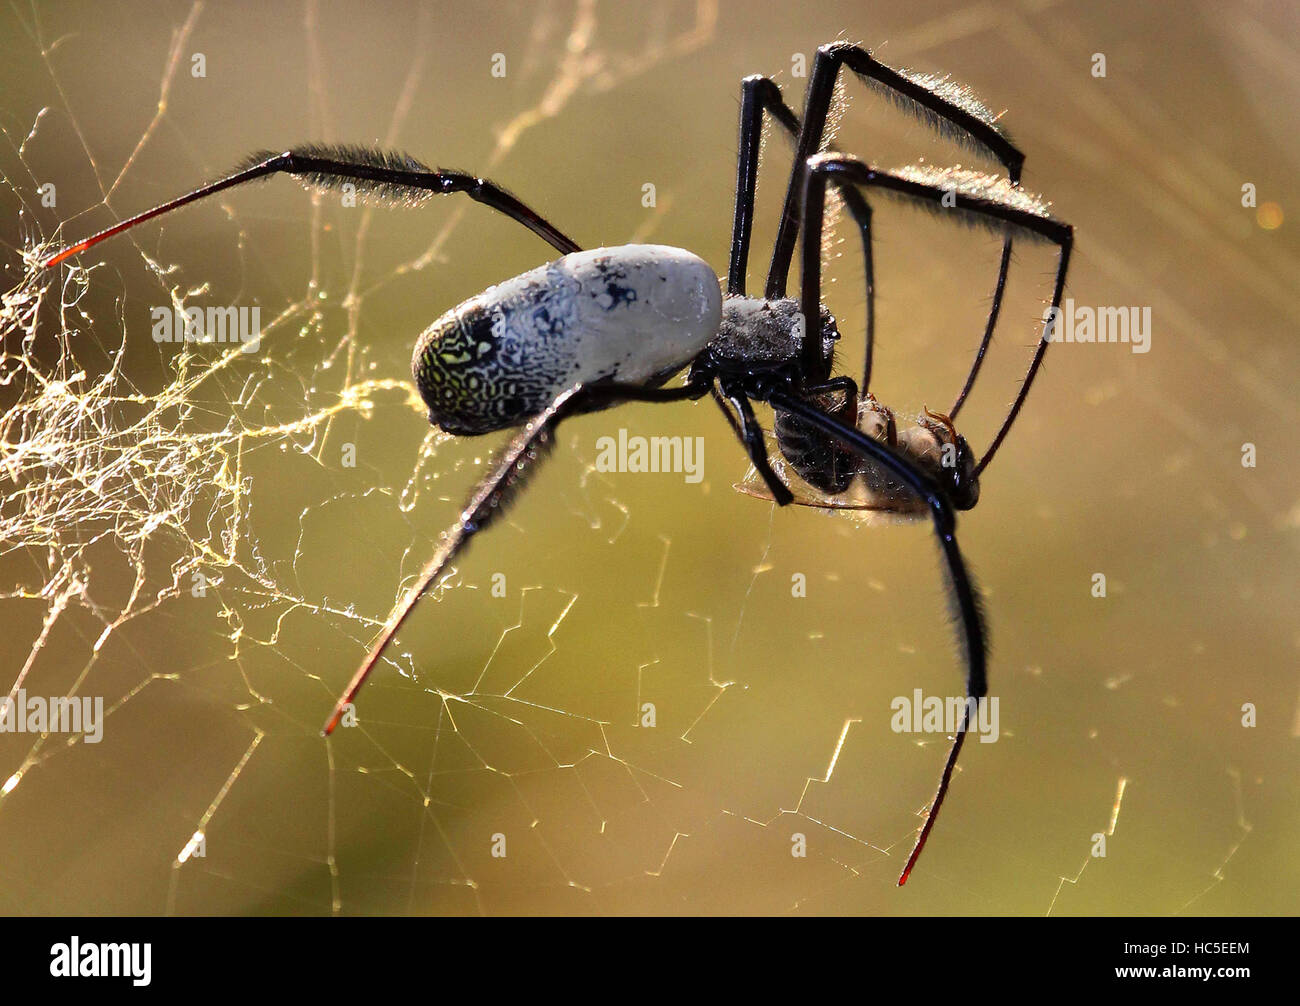
<path id="1" fill-rule="evenodd" d="M 785 205 L 781 209 L 781 222 L 772 250 L 772 265 L 767 274 L 767 296 L 784 296 L 789 281 L 790 261 L 794 256 L 794 243 L 798 234 L 801 194 L 807 159 L 822 148 L 826 121 L 835 96 L 835 84 L 840 69 L 848 66 L 868 87 L 883 91 L 894 104 L 910 110 L 939 133 L 952 134 L 974 149 L 992 155 L 1005 168 L 1013 185 L 1019 183 L 1024 166 L 1024 155 L 997 127 L 987 109 L 959 88 L 952 88 L 946 81 L 926 82 L 913 75 L 900 73 L 876 60 L 867 49 L 849 42 L 832 42 L 822 45 L 812 62 L 812 75 L 809 79 L 807 97 L 803 107 L 803 130 L 800 133 L 794 164 L 790 168 L 790 181 L 785 190 Z M 870 257 L 868 283 L 870 283 Z M 957 402 L 948 411 L 957 416 L 966 395 L 970 394 L 984 363 L 984 354 L 993 339 L 993 329 L 1002 308 L 1002 294 L 1006 289 L 1006 273 L 1011 264 L 1011 237 L 1002 239 L 1002 259 L 997 270 L 997 285 L 989 305 L 988 320 L 984 324 L 984 337 L 980 341 L 975 360 Z M 867 299 L 868 311 L 871 299 Z M 870 325 L 868 313 L 868 325 Z M 871 342 L 867 342 L 867 367 L 862 387 L 870 387 Z"/>

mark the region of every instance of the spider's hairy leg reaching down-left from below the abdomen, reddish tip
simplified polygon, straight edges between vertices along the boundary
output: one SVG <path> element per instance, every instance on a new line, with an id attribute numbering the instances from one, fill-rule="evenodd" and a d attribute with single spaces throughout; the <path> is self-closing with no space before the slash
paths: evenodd
<path id="1" fill-rule="evenodd" d="M 510 502 L 524 490 L 528 477 L 537 468 L 537 463 L 546 456 L 560 420 L 620 402 L 680 402 L 686 398 L 699 398 L 707 393 L 707 385 L 690 383 L 676 387 L 645 387 L 612 382 L 575 385 L 560 393 L 550 406 L 529 420 L 502 452 L 497 467 L 469 495 L 460 511 L 460 520 L 443 533 L 433 558 L 402 600 L 398 602 L 393 613 L 389 615 L 361 665 L 352 675 L 352 680 L 347 684 L 338 702 L 334 703 L 334 710 L 325 721 L 324 733 L 328 736 L 338 727 L 344 711 L 356 698 L 380 658 L 384 656 L 384 651 L 393 642 L 393 637 L 398 634 L 425 591 L 442 576 L 442 572 L 464 550 L 469 539 L 491 525 Z"/>

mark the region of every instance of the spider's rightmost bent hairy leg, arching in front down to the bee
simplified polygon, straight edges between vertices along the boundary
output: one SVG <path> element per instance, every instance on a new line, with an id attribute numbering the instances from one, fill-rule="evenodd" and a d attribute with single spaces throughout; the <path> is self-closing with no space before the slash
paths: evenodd
<path id="1" fill-rule="evenodd" d="M 814 298 L 818 295 L 818 273 L 822 256 L 822 205 L 828 179 L 840 186 L 880 188 L 890 195 L 930 205 L 939 213 L 956 212 L 965 216 L 972 224 L 994 227 L 1005 233 L 1014 230 L 1032 238 L 1048 240 L 1060 248 L 1056 282 L 1052 290 L 1052 304 L 1044 318 L 1043 331 L 1034 351 L 1034 359 L 1030 361 L 1030 368 L 1020 382 L 1015 402 L 1013 402 L 1006 419 L 1002 420 L 1002 425 L 975 468 L 975 476 L 979 476 L 988 467 L 997 448 L 1006 438 L 1008 430 L 1010 430 L 1020 407 L 1024 404 L 1024 399 L 1030 394 L 1030 386 L 1034 383 L 1034 378 L 1043 364 L 1043 356 L 1046 354 L 1052 337 L 1050 318 L 1057 316 L 1061 307 L 1061 296 L 1065 292 L 1065 278 L 1070 269 L 1070 251 L 1074 247 L 1074 229 L 1069 224 L 1048 216 L 1045 208 L 1032 198 L 1027 195 L 1023 199 L 1011 198 L 1013 194 L 1015 196 L 1020 195 L 1018 188 L 1010 190 L 1010 192 L 987 192 L 983 190 L 963 190 L 957 186 L 944 187 L 919 181 L 915 177 L 881 172 L 870 168 L 857 157 L 849 157 L 842 153 L 815 155 L 809 159 L 807 168 L 803 192 L 806 209 L 803 221 L 802 294 L 805 328 L 812 324 L 814 318 L 819 317 L 819 307 L 816 307 Z M 810 347 L 805 343 L 805 359 L 811 352 L 815 352 L 815 350 L 816 347 Z M 820 360 L 820 356 L 818 356 L 818 360 Z"/>

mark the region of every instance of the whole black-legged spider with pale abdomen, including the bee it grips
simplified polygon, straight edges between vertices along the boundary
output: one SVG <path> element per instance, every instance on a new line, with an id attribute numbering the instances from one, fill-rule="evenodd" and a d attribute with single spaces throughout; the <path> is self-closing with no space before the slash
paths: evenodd
<path id="1" fill-rule="evenodd" d="M 910 166 L 881 170 L 824 143 L 827 116 L 844 68 L 939 133 L 992 156 L 1006 175 Z M 794 140 L 794 161 L 763 296 L 745 291 L 759 146 L 764 116 Z M 412 372 L 429 421 L 451 434 L 517 429 L 495 467 L 472 493 L 460 519 L 443 533 L 416 582 L 389 616 L 364 662 L 335 703 L 324 732 L 351 707 L 420 597 L 469 539 L 491 525 L 536 471 L 567 417 L 627 402 L 670 403 L 711 396 L 777 506 L 797 499 L 774 471 L 767 435 L 753 403 L 774 409 L 783 469 L 826 494 L 811 504 L 852 506 L 852 486 L 866 487 L 875 509 L 928 515 L 942 551 L 946 587 L 959 624 L 966 664 L 966 707 L 939 788 L 898 877 L 906 883 L 924 849 L 952 780 L 972 706 L 987 694 L 987 632 L 978 590 L 957 546 L 956 512 L 979 499 L 979 477 L 1024 404 L 1050 338 L 1044 320 L 1024 380 L 983 458 L 976 460 L 954 420 L 970 394 L 997 324 L 1013 237 L 1058 250 L 1052 308 L 1058 308 L 1072 247 L 1070 225 L 1020 188 L 1024 155 L 970 91 L 946 78 L 894 70 L 848 42 L 822 45 L 814 60 L 802 121 L 768 77 L 741 83 L 736 205 L 725 295 L 698 256 L 654 244 L 582 251 L 550 221 L 497 183 L 473 174 L 436 170 L 400 153 L 309 144 L 256 153 L 233 174 L 122 221 L 48 259 L 55 266 L 94 244 L 153 217 L 243 182 L 289 174 L 315 190 L 346 183 L 377 201 L 416 205 L 433 195 L 464 192 L 528 227 L 562 257 L 493 286 L 452 308 L 420 335 Z M 822 230 L 829 186 L 838 191 L 861 231 L 867 316 L 862 381 L 835 376 L 836 320 L 822 304 Z M 984 335 L 956 403 L 926 411 L 914 428 L 897 428 L 893 412 L 868 393 L 875 337 L 871 207 L 880 192 L 1002 235 L 1002 256 Z M 786 292 L 801 242 L 801 289 Z M 1046 317 L 1052 317 L 1049 312 Z M 685 372 L 680 383 L 670 381 Z"/>

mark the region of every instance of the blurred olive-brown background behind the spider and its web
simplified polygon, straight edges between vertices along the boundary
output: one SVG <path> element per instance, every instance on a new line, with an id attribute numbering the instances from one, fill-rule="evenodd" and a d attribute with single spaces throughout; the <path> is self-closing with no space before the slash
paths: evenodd
<path id="1" fill-rule="evenodd" d="M 104 263 L 86 320 L 60 318 L 51 287 L 49 348 L 34 351 L 51 367 L 65 324 L 92 373 L 125 344 L 122 386 L 146 398 L 212 368 L 214 347 L 182 367 L 150 338 L 148 308 L 173 298 L 260 304 L 268 334 L 259 356 L 187 391 L 177 424 L 225 454 L 194 461 L 192 506 L 150 533 L 139 563 L 121 558 L 109 515 L 57 526 L 65 547 L 86 546 L 90 582 L 51 617 L 43 550 L 0 556 L 6 682 L 30 664 L 30 693 L 110 708 L 99 745 L 0 734 L 0 910 L 1296 912 L 1297 17 L 1028 0 L 5 8 L 6 289 L 22 246 L 60 224 L 61 239 L 82 237 L 302 140 L 478 170 L 585 246 L 671 243 L 724 272 L 741 77 L 774 74 L 801 107 L 796 55 L 849 38 L 1008 109 L 1026 187 L 1076 229 L 1069 295 L 1149 305 L 1153 334 L 1145 355 L 1053 347 L 961 519 L 1002 737 L 967 745 L 900 890 L 945 745 L 890 732 L 889 702 L 949 694 L 962 675 L 928 528 L 774 513 L 734 493 L 746 465 L 707 403 L 573 421 L 508 521 L 412 619 L 361 695 L 361 725 L 326 742 L 320 724 L 402 577 L 499 446 L 428 437 L 411 346 L 549 248 L 452 199 L 367 212 L 287 179 L 100 246 L 83 263 Z M 845 96 L 844 149 L 980 164 L 855 82 Z M 768 136 L 764 153 L 754 286 L 789 144 Z M 55 208 L 35 195 L 47 181 Z M 1000 242 L 890 204 L 876 221 L 874 391 L 905 413 L 941 408 L 978 343 Z M 853 370 L 861 266 L 855 235 L 838 238 L 827 300 Z M 1014 395 L 1052 265 L 1045 248 L 1017 251 L 962 415 L 978 448 Z M 9 383 L 0 403 L 25 394 Z M 703 482 L 597 473 L 595 441 L 620 426 L 702 435 Z M 23 435 L 6 424 L 9 460 Z M 21 522 L 20 482 L 4 485 Z M 195 598 L 172 576 L 194 555 L 238 565 L 208 563 L 220 586 Z M 653 729 L 637 725 L 645 702 Z M 205 855 L 178 862 L 198 831 Z M 1098 832 L 1105 858 L 1089 855 Z M 794 833 L 806 858 L 790 855 Z"/>

